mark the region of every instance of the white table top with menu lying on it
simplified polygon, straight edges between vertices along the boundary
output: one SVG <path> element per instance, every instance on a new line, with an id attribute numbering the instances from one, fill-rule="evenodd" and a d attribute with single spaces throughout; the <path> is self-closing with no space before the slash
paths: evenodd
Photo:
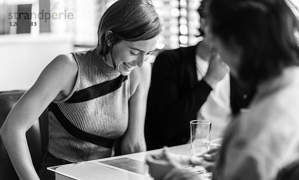
<path id="1" fill-rule="evenodd" d="M 218 144 L 216 141 L 212 140 L 212 143 Z M 169 151 L 175 154 L 191 156 L 190 144 L 169 147 Z M 161 149 L 152 150 L 50 167 L 48 170 L 56 172 L 56 180 L 152 180 L 148 174 L 148 166 L 145 163 L 146 156 L 160 152 Z"/>

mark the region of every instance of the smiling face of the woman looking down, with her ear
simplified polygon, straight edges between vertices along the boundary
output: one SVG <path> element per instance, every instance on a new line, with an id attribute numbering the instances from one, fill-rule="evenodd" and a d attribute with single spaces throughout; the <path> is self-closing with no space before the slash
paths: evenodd
<path id="1" fill-rule="evenodd" d="M 124 76 L 129 75 L 136 67 L 142 67 L 144 62 L 149 59 L 150 54 L 155 50 L 158 36 L 141 41 L 125 41 L 121 40 L 115 44 L 112 49 L 116 69 Z M 110 56 L 110 53 L 108 54 Z M 113 67 L 112 59 L 107 64 Z"/>

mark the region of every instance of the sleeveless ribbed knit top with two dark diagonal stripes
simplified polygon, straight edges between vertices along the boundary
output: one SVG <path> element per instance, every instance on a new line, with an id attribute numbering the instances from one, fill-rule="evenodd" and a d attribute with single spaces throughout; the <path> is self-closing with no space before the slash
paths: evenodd
<path id="1" fill-rule="evenodd" d="M 78 77 L 68 97 L 49 105 L 48 151 L 69 162 L 110 157 L 114 140 L 128 127 L 129 76 L 94 50 L 72 54 Z"/>

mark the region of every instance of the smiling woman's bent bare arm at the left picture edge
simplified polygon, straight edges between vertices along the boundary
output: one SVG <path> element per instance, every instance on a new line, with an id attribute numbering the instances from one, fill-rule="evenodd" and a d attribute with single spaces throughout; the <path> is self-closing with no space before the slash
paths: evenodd
<path id="1" fill-rule="evenodd" d="M 55 98 L 63 97 L 71 89 L 76 74 L 77 64 L 71 55 L 57 56 L 15 104 L 0 129 L 0 136 L 20 180 L 39 180 L 28 150 L 26 131 Z"/>

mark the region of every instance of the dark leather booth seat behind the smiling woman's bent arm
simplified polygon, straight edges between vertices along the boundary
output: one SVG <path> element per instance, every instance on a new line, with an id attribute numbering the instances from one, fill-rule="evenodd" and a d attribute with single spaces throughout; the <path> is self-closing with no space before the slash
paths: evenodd
<path id="1" fill-rule="evenodd" d="M 0 127 L 2 127 L 9 111 L 25 91 L 0 92 Z M 31 154 L 33 166 L 39 170 L 42 157 L 48 146 L 48 111 L 47 109 L 26 132 L 26 139 Z M 0 180 L 19 180 L 10 162 L 6 149 L 0 138 Z"/>

